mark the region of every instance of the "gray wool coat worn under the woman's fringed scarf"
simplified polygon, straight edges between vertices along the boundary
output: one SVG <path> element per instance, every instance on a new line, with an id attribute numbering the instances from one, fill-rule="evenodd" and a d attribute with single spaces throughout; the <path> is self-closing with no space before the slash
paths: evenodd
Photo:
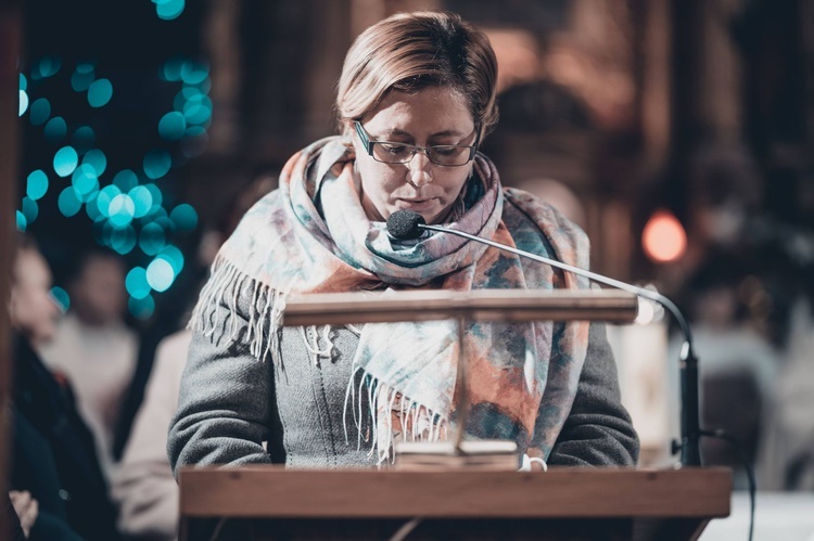
<path id="1" fill-rule="evenodd" d="M 366 397 L 357 396 L 355 405 L 346 400 L 358 343 L 355 332 L 332 329 L 333 355 L 328 359 L 315 357 L 306 346 L 325 348 L 322 337 L 284 327 L 283 363 L 276 366 L 249 351 L 249 325 L 242 317 L 247 307 L 249 299 L 239 298 L 233 320 L 228 306 L 213 306 L 203 315 L 220 322 L 215 332 L 193 333 L 167 442 L 176 475 L 189 465 L 374 466 L 369 422 L 359 415 L 368 411 Z M 573 408 L 548 463 L 632 466 L 637 458 L 638 438 L 620 402 L 605 325 L 594 323 Z"/>

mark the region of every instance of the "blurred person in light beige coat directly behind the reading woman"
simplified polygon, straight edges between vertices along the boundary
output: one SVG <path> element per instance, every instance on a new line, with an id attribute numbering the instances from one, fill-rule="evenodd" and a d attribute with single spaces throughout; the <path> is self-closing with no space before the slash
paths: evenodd
<path id="1" fill-rule="evenodd" d="M 227 205 L 217 228 L 201 242 L 199 258 L 207 267 L 243 214 L 275 188 L 276 175 L 260 176 Z M 177 537 L 178 484 L 167 458 L 167 429 L 178 408 L 191 337 L 183 329 L 158 344 L 144 400 L 112 480 L 113 498 L 119 505 L 118 526 L 128 539 L 169 541 Z"/>

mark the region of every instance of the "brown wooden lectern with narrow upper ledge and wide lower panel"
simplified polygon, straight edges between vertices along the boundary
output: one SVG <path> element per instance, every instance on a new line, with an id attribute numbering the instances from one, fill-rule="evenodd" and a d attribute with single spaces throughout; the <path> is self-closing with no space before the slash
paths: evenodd
<path id="1" fill-rule="evenodd" d="M 415 291 L 378 298 L 313 295 L 289 302 L 283 318 L 290 325 L 442 318 L 629 322 L 636 311 L 636 298 L 622 292 Z M 183 469 L 179 482 L 181 541 L 198 539 L 195 525 L 206 519 L 207 540 L 684 541 L 729 514 L 732 474 L 254 466 Z"/>

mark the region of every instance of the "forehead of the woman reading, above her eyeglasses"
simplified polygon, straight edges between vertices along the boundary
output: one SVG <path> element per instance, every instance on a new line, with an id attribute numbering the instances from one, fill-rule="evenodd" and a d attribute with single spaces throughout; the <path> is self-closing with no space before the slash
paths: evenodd
<path id="1" fill-rule="evenodd" d="M 430 87 L 418 92 L 389 92 L 365 118 L 369 128 L 421 129 L 429 132 L 470 133 L 474 127 L 469 102 L 447 87 Z"/>

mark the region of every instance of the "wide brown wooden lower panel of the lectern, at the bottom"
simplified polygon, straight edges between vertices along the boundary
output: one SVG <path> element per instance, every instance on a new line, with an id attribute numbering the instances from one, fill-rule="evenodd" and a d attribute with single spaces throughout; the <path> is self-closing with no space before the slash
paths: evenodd
<path id="1" fill-rule="evenodd" d="M 185 469 L 179 480 L 181 539 L 194 531 L 190 520 L 216 517 L 252 519 L 245 530 L 254 539 L 391 539 L 420 517 L 407 539 L 686 540 L 697 539 L 711 518 L 729 514 L 732 490 L 725 468 L 264 466 Z"/>

